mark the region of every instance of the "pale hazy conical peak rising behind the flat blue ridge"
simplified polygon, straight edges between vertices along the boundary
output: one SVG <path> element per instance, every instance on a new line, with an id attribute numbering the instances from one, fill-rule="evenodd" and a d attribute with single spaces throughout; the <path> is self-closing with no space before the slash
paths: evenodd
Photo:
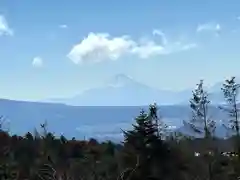
<path id="1" fill-rule="evenodd" d="M 47 102 L 61 102 L 74 106 L 142 106 L 153 102 L 168 105 L 184 102 L 190 95 L 191 90 L 159 90 L 124 74 L 117 74 L 101 87 L 86 90 L 71 98 L 51 99 Z"/>

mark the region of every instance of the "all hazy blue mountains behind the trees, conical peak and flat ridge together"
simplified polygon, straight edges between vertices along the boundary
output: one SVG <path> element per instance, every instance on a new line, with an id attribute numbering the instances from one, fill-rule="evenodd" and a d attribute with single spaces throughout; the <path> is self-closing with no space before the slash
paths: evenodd
<path id="1" fill-rule="evenodd" d="M 210 98 L 215 99 L 209 113 L 218 121 L 227 119 L 226 114 L 215 105 L 224 100 L 220 87 L 219 83 L 208 89 Z M 118 74 L 101 87 L 72 98 L 54 99 L 51 103 L 0 99 L 0 115 L 10 121 L 12 133 L 32 132 L 47 120 L 49 130 L 56 135 L 63 133 L 68 138 L 86 136 L 119 140 L 122 138 L 121 129 L 131 128 L 140 110 L 147 109 L 145 105 L 149 103 L 157 102 L 159 114 L 166 124 L 176 127 L 176 131 L 197 136 L 182 124 L 183 120 L 191 118 L 190 97 L 191 90 L 188 89 L 180 92 L 158 90 Z M 225 134 L 226 130 L 218 123 L 217 136 Z"/>

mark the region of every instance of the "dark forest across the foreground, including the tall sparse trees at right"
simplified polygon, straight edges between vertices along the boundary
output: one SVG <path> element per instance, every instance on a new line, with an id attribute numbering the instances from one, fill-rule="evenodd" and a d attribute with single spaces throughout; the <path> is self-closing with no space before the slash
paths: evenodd
<path id="1" fill-rule="evenodd" d="M 74 137 L 70 140 L 63 135 L 55 137 L 45 123 L 41 124 L 41 132 L 10 135 L 2 128 L 3 123 L 0 126 L 0 179 L 240 179 L 239 87 L 234 77 L 223 83 L 226 103 L 219 108 L 229 117 L 223 126 L 234 131 L 226 139 L 214 136 L 216 120 L 208 114 L 211 102 L 203 81 L 197 84 L 190 99 L 192 119 L 184 122 L 202 138 L 169 133 L 159 118 L 156 104 L 140 112 L 131 130 L 123 129 L 124 140 L 119 144 Z"/>

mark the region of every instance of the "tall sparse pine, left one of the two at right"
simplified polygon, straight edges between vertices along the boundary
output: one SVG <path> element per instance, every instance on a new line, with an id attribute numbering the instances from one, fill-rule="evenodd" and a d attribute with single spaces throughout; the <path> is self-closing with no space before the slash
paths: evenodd
<path id="1" fill-rule="evenodd" d="M 192 94 L 193 97 L 190 99 L 192 119 L 184 124 L 189 125 L 196 133 L 203 134 L 205 139 L 209 139 L 214 135 L 216 123 L 208 115 L 210 100 L 208 93 L 203 88 L 203 80 L 200 80 Z"/>

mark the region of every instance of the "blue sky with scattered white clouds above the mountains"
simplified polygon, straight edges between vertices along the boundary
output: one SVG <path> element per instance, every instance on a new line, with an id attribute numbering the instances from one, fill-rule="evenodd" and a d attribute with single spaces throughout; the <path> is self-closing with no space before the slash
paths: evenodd
<path id="1" fill-rule="evenodd" d="M 70 97 L 116 74 L 182 90 L 240 76 L 240 2 L 0 0 L 0 98 Z"/>

